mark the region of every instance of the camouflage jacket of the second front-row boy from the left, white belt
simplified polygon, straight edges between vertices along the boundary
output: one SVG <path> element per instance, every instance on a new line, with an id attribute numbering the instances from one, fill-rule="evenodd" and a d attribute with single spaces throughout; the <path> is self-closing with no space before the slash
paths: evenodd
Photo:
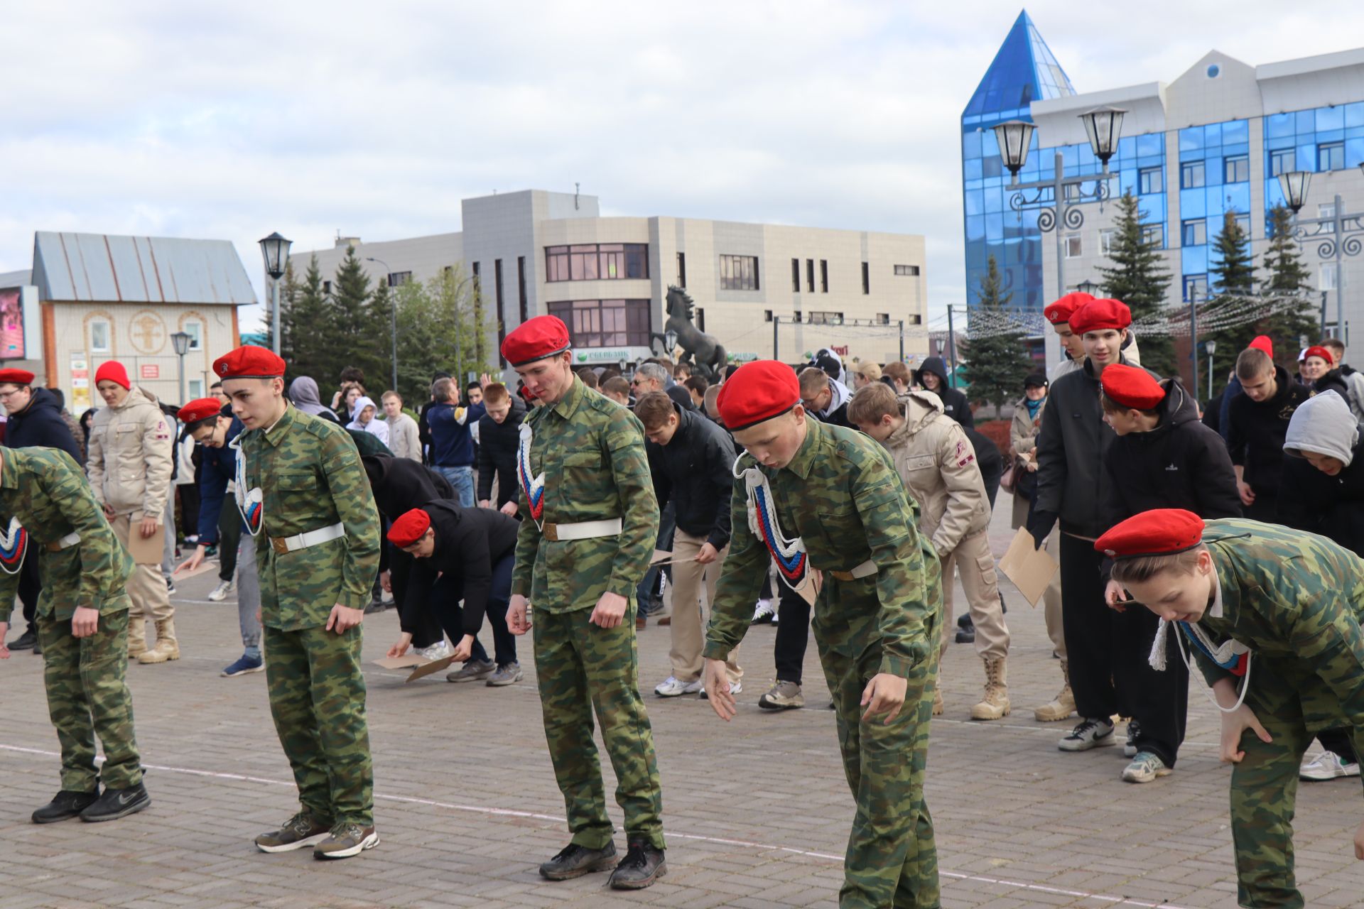
<path id="1" fill-rule="evenodd" d="M 325 626 L 331 606 L 363 609 L 379 571 L 379 517 L 360 452 L 334 422 L 292 405 L 269 431 L 240 436 L 247 489 L 261 488 L 256 541 L 261 619 L 281 631 Z M 337 522 L 345 536 L 278 553 L 265 537 L 292 537 Z"/>

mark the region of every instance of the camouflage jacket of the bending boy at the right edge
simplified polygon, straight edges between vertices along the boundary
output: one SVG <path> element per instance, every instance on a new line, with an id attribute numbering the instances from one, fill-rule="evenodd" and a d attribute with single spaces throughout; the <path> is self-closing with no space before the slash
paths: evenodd
<path id="1" fill-rule="evenodd" d="M 1312 732 L 1353 726 L 1364 748 L 1364 559 L 1326 537 L 1278 525 L 1209 521 L 1203 541 L 1221 587 L 1221 616 L 1199 626 L 1214 643 L 1251 649 L 1251 687 L 1277 676 L 1297 692 Z M 1209 684 L 1229 677 L 1196 654 Z"/>

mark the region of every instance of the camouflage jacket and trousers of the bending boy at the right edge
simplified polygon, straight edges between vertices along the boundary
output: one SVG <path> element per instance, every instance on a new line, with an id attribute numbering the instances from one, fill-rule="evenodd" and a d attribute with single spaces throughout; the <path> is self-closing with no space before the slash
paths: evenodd
<path id="1" fill-rule="evenodd" d="M 1273 739 L 1247 730 L 1245 758 L 1232 767 L 1237 895 L 1243 906 L 1300 908 L 1293 808 L 1303 754 L 1331 728 L 1352 729 L 1364 750 L 1364 560 L 1326 537 L 1254 521 L 1209 521 L 1203 540 L 1221 590 L 1199 626 L 1214 643 L 1234 638 L 1251 649 L 1245 703 Z M 1229 677 L 1185 646 L 1209 684 Z"/>

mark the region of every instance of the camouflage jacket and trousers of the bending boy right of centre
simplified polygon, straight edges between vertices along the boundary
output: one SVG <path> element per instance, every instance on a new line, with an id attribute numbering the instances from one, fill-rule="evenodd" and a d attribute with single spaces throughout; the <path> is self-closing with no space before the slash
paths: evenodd
<path id="1" fill-rule="evenodd" d="M 839 905 L 938 906 L 933 819 L 923 800 L 929 722 L 937 683 L 943 594 L 932 544 L 915 529 L 917 508 L 891 458 L 851 429 L 806 421 L 791 463 L 760 467 L 772 487 L 782 533 L 803 540 L 824 571 L 814 602 L 814 641 L 833 695 L 839 747 L 857 816 L 848 837 Z M 743 455 L 739 467 L 756 466 Z M 769 559 L 749 529 L 747 493 L 735 484 L 734 542 L 720 575 L 705 656 L 723 660 L 739 645 Z M 876 574 L 843 581 L 866 561 Z M 887 672 L 908 680 L 895 722 L 861 718 L 862 691 Z"/>

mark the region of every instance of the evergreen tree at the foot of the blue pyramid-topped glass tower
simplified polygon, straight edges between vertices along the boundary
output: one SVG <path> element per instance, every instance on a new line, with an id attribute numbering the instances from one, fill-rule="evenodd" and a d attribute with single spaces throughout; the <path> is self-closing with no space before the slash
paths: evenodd
<path id="1" fill-rule="evenodd" d="M 1001 293 L 1000 268 L 990 256 L 962 343 L 962 372 L 968 397 L 993 403 L 996 412 L 1023 392 L 1023 380 L 1034 369 L 1023 323 L 1007 311 L 1012 300 L 1012 290 Z"/>

